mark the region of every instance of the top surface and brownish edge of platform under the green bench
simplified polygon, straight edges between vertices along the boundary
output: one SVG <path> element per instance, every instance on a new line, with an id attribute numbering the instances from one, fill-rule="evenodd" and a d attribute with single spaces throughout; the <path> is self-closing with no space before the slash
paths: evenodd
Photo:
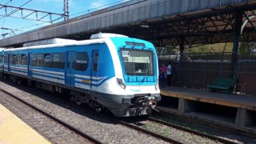
<path id="1" fill-rule="evenodd" d="M 195 88 L 160 88 L 162 96 L 171 96 L 175 98 L 190 99 L 202 101 L 205 103 L 214 103 L 228 107 L 238 107 L 256 111 L 256 96 L 245 96 L 238 94 L 221 94 L 217 92 L 207 92 Z"/>

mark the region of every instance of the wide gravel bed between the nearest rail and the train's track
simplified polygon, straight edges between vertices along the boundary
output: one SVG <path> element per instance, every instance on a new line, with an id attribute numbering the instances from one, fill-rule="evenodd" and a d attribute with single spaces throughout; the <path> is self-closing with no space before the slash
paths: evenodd
<path id="1" fill-rule="evenodd" d="M 38 89 L 35 89 L 38 91 L 35 94 L 35 92 L 28 92 L 26 86 L 14 87 L 5 82 L 0 82 L 0 87 L 105 143 L 166 143 L 150 135 L 96 117 L 93 113 L 87 112 L 84 107 L 77 108 L 69 102 L 66 103 L 66 100 L 53 98 L 46 92 L 39 92 Z"/>

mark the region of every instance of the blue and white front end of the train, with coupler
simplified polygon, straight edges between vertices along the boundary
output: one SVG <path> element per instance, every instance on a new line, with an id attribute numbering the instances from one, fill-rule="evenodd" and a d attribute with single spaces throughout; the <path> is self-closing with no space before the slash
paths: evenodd
<path id="1" fill-rule="evenodd" d="M 157 111 L 161 96 L 156 49 L 152 43 L 140 39 L 110 39 L 116 48 L 116 52 L 112 52 L 116 86 L 112 84 L 110 88 L 115 93 L 116 97 L 112 99 L 116 99 L 116 103 L 108 108 L 118 117 L 148 115 Z"/>

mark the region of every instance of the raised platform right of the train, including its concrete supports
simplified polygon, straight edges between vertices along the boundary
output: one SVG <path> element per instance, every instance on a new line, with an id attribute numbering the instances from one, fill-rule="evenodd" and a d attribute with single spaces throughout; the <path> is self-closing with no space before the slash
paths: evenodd
<path id="1" fill-rule="evenodd" d="M 160 88 L 156 109 L 256 137 L 256 96 L 207 92 L 196 88 Z"/>

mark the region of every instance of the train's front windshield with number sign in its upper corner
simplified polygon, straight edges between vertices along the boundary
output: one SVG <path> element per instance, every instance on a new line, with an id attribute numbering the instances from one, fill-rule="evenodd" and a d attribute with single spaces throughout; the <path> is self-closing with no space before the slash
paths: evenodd
<path id="1" fill-rule="evenodd" d="M 127 75 L 154 75 L 153 52 L 150 50 L 121 49 Z"/>

